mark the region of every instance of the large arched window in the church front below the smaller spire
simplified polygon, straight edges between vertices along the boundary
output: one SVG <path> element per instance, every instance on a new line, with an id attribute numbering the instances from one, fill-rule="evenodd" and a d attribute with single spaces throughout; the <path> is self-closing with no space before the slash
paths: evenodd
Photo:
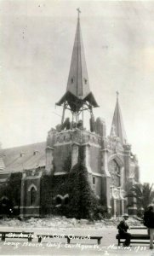
<path id="1" fill-rule="evenodd" d="M 117 165 L 116 160 L 109 162 L 109 172 L 111 174 L 111 185 L 120 187 L 120 167 Z"/>

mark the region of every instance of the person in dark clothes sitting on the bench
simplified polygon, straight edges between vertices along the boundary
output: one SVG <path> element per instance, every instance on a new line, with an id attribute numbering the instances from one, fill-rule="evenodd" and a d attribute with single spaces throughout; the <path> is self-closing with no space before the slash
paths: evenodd
<path id="1" fill-rule="evenodd" d="M 131 234 L 128 233 L 128 214 L 123 214 L 123 220 L 120 222 L 120 224 L 117 225 L 117 229 L 119 232 L 119 235 L 122 236 L 122 238 L 125 238 L 126 240 L 123 242 L 124 247 L 128 247 L 130 244 Z"/>

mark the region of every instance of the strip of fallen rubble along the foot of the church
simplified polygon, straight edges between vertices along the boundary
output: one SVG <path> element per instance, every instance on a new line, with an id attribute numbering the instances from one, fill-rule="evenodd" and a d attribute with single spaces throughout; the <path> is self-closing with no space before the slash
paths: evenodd
<path id="1" fill-rule="evenodd" d="M 104 227 L 117 227 L 117 224 L 122 218 L 101 219 L 97 221 L 90 221 L 88 219 L 76 219 L 63 217 L 46 217 L 46 218 L 1 218 L 0 226 L 7 227 L 23 227 L 23 228 L 87 228 L 100 229 Z M 128 219 L 129 226 L 143 225 L 142 222 L 136 218 Z"/>

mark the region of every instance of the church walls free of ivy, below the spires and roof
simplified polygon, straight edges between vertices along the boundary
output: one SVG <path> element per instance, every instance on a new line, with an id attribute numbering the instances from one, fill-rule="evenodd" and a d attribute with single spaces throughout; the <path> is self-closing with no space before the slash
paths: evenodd
<path id="1" fill-rule="evenodd" d="M 99 122 L 97 119 L 96 123 Z M 83 165 L 88 169 L 89 183 L 102 204 L 108 207 L 108 211 L 113 216 L 120 216 L 126 211 L 130 214 L 136 213 L 135 208 L 127 210 L 128 202 L 124 195 L 133 183 L 139 181 L 138 161 L 131 153 L 129 144 L 123 145 L 118 137 L 106 137 L 104 121 L 100 122 L 99 129 L 100 134 L 80 129 L 48 131 L 46 148 L 42 155 L 44 166 L 20 170 L 22 172 L 21 216 L 40 215 L 41 178 L 44 174 L 52 177 L 65 176 L 71 172 L 64 170 L 65 163 L 69 158 L 71 168 L 75 166 L 79 160 L 80 148 L 83 150 Z M 4 167 L 0 173 L 1 183 L 5 181 L 3 177 L 7 177 Z"/>

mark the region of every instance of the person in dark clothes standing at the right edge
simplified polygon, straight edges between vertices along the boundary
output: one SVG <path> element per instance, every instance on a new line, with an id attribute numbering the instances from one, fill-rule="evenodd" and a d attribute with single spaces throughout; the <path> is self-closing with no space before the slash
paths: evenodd
<path id="1" fill-rule="evenodd" d="M 144 213 L 144 225 L 148 228 L 150 234 L 150 249 L 153 249 L 154 239 L 154 207 L 150 205 Z"/>

